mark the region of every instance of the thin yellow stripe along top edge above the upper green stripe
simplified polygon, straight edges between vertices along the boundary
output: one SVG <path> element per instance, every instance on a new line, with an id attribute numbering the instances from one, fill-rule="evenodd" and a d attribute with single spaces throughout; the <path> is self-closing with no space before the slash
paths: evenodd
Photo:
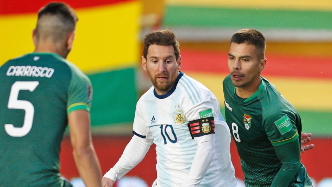
<path id="1" fill-rule="evenodd" d="M 166 3 L 175 6 L 332 10 L 331 0 L 166 0 Z"/>

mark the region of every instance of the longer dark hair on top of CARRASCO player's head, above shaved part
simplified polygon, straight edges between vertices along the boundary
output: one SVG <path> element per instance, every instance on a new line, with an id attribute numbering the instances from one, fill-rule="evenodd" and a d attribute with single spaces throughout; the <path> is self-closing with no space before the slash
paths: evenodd
<path id="1" fill-rule="evenodd" d="M 70 21 L 74 26 L 78 21 L 74 9 L 62 2 L 51 2 L 42 7 L 38 12 L 38 20 L 45 14 L 56 15 L 62 21 Z"/>

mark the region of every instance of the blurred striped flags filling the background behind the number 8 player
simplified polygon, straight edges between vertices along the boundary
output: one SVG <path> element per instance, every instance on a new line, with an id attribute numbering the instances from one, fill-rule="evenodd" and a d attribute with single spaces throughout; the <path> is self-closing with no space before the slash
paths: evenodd
<path id="1" fill-rule="evenodd" d="M 329 136 L 331 18 L 330 0 L 166 0 L 163 26 L 184 38 L 179 37 L 182 71 L 212 90 L 221 107 L 232 34 L 244 28 L 261 31 L 268 59 L 262 76 L 299 111 L 303 131 Z"/>

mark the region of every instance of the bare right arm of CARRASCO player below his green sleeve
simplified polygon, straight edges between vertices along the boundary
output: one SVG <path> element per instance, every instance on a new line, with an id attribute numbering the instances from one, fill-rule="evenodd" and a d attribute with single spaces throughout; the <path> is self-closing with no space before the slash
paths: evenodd
<path id="1" fill-rule="evenodd" d="M 70 112 L 68 125 L 74 160 L 83 182 L 87 187 L 100 187 L 101 169 L 92 144 L 89 111 Z"/>

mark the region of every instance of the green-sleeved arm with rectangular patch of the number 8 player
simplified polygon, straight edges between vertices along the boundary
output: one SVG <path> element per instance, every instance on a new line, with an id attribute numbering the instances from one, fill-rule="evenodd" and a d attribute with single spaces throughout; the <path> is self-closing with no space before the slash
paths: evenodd
<path id="1" fill-rule="evenodd" d="M 287 187 L 300 167 L 300 139 L 296 128 L 300 123 L 299 116 L 288 110 L 267 115 L 265 131 L 282 163 L 272 181 L 273 187 Z"/>

